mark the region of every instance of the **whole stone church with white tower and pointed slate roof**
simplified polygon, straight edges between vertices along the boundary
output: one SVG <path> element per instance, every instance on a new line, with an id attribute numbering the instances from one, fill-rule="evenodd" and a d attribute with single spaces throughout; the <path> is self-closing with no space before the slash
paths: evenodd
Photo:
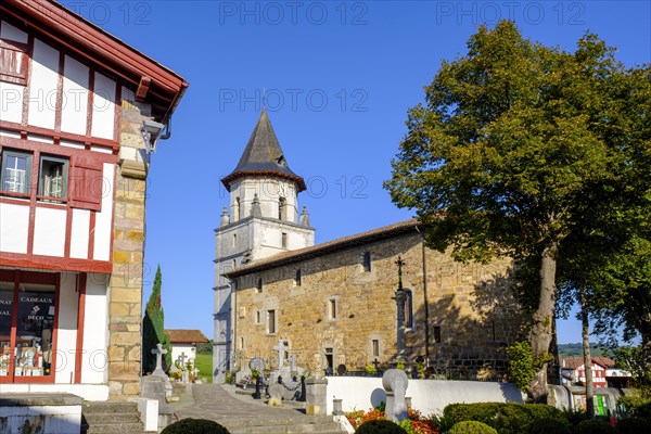
<path id="1" fill-rule="evenodd" d="M 398 363 L 456 379 L 501 379 L 526 336 L 512 263 L 462 264 L 425 246 L 411 219 L 315 245 L 315 229 L 263 110 L 234 170 L 216 232 L 215 381 L 253 357 L 316 373 Z"/>

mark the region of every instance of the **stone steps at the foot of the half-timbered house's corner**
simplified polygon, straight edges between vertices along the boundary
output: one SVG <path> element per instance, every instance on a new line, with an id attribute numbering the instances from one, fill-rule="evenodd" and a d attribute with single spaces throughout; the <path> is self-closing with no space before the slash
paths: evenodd
<path id="1" fill-rule="evenodd" d="M 136 403 L 84 403 L 81 434 L 142 434 L 144 432 Z"/>

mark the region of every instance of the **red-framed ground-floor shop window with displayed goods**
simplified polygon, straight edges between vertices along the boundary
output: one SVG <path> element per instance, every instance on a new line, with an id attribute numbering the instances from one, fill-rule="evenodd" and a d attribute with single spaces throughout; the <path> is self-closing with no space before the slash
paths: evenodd
<path id="1" fill-rule="evenodd" d="M 58 275 L 0 270 L 0 383 L 53 381 Z"/>

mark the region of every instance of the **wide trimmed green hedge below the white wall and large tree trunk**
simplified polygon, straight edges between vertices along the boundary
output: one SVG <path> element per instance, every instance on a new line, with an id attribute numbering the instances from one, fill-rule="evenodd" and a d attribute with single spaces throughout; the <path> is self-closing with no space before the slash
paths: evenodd
<path id="1" fill-rule="evenodd" d="M 539 419 L 565 421 L 560 410 L 545 404 L 450 404 L 443 410 L 444 430 L 462 421 L 477 421 L 494 427 L 499 434 L 522 434 L 528 433 L 532 423 Z"/>

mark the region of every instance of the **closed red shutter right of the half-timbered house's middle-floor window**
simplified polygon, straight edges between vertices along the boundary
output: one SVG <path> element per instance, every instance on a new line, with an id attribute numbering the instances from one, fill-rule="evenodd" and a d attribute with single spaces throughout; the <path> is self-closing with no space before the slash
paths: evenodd
<path id="1" fill-rule="evenodd" d="M 75 157 L 72 161 L 69 200 L 75 208 L 91 210 L 102 209 L 104 192 L 104 178 L 102 177 L 103 164 L 92 158 Z"/>

